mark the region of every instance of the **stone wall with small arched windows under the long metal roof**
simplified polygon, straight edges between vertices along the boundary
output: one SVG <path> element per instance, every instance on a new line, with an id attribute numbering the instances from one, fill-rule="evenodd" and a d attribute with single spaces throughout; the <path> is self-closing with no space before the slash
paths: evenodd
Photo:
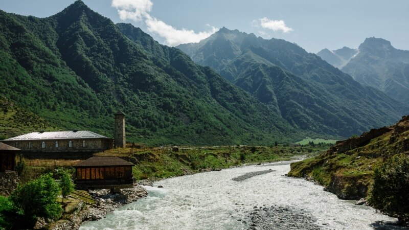
<path id="1" fill-rule="evenodd" d="M 72 143 L 71 147 L 70 141 Z M 42 142 L 45 144 L 44 148 L 42 147 Z M 56 142 L 58 142 L 58 147 Z M 85 142 L 85 147 L 83 142 Z M 25 152 L 98 152 L 112 148 L 111 139 L 28 140 L 3 141 L 3 143 Z"/>

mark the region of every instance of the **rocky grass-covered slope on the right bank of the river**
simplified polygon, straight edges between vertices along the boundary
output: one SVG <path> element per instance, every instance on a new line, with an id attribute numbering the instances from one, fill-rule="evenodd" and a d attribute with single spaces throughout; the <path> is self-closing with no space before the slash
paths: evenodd
<path id="1" fill-rule="evenodd" d="M 391 127 L 339 141 L 326 153 L 292 163 L 289 176 L 310 177 L 339 198 L 367 196 L 374 169 L 394 155 L 409 155 L 409 116 Z"/>

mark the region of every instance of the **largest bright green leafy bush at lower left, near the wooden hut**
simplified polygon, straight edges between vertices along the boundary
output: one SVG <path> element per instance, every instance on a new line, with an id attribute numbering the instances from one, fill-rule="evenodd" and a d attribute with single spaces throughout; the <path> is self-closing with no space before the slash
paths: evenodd
<path id="1" fill-rule="evenodd" d="M 27 224 L 32 226 L 37 217 L 56 219 L 61 216 L 62 208 L 56 200 L 59 193 L 60 187 L 49 173 L 18 186 L 10 199 Z"/>

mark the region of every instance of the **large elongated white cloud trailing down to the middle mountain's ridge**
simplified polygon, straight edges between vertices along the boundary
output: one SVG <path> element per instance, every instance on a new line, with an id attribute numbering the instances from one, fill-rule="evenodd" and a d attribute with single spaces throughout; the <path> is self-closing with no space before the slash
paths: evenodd
<path id="1" fill-rule="evenodd" d="M 112 7 L 117 8 L 119 17 L 122 20 L 131 19 L 134 21 L 144 20 L 149 32 L 153 32 L 165 38 L 165 44 L 175 46 L 183 43 L 199 42 L 215 33 L 218 29 L 209 26 L 209 31 L 195 32 L 182 28 L 181 30 L 166 24 L 166 22 L 152 17 L 149 12 L 152 10 L 150 0 L 112 0 Z"/>

